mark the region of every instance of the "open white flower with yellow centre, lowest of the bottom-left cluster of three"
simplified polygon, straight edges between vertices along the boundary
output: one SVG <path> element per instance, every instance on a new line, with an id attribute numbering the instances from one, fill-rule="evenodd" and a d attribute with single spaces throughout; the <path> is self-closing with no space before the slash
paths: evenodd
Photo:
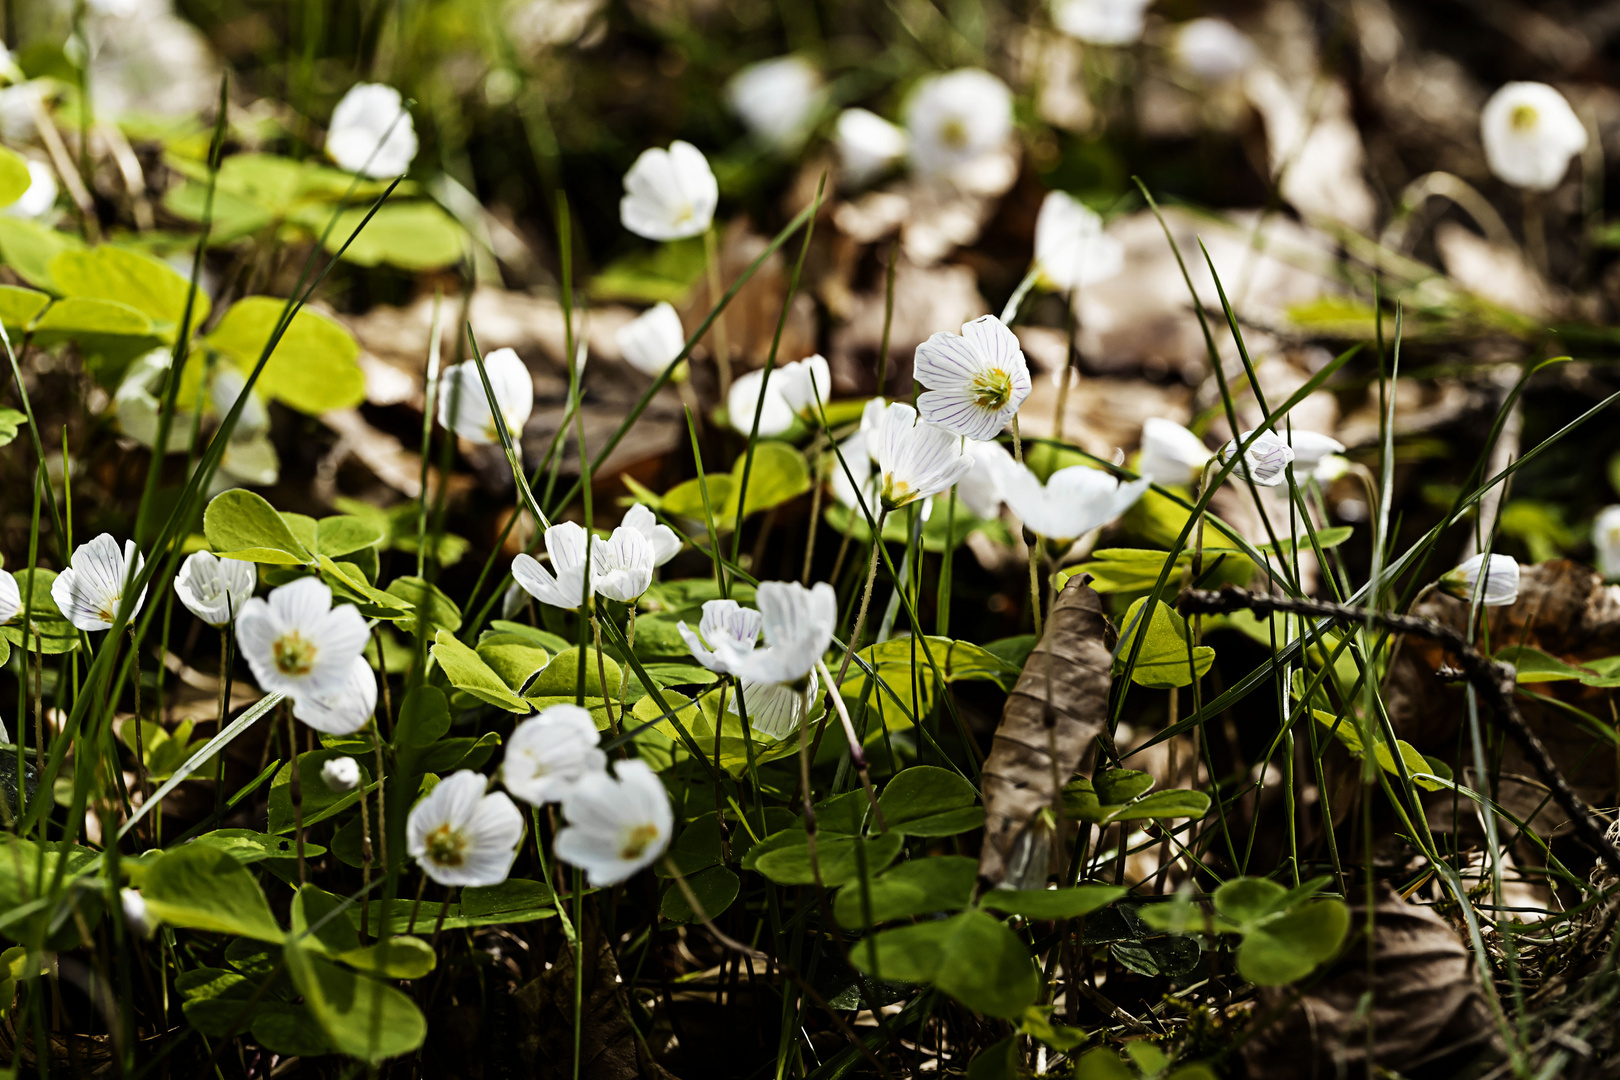
<path id="1" fill-rule="evenodd" d="M 497 886 L 523 839 L 523 814 L 505 792 L 484 793 L 484 777 L 462 769 L 411 806 L 407 845 L 441 886 Z"/>

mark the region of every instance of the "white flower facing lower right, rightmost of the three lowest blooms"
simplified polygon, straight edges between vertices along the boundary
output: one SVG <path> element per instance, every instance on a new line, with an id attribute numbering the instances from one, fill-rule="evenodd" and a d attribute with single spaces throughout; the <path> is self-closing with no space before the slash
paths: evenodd
<path id="1" fill-rule="evenodd" d="M 669 793 L 645 761 L 620 761 L 614 771 L 582 776 L 562 798 L 569 824 L 557 834 L 557 858 L 583 870 L 596 889 L 653 863 L 676 824 Z"/>

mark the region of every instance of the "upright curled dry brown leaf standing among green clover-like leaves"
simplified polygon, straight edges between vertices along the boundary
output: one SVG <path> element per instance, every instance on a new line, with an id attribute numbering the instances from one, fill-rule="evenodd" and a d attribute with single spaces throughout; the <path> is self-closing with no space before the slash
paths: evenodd
<path id="1" fill-rule="evenodd" d="M 1063 586 L 1047 630 L 1001 709 L 980 777 L 985 798 L 980 882 L 1022 878 L 1024 853 L 1045 850 L 1043 844 L 1025 839 L 1037 832 L 1030 824 L 1081 767 L 1108 719 L 1113 628 L 1102 597 L 1087 581 L 1089 575 L 1079 575 Z"/>

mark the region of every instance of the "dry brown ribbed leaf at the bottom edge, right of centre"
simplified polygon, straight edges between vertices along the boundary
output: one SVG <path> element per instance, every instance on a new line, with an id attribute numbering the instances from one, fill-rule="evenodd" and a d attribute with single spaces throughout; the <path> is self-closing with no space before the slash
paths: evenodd
<path id="1" fill-rule="evenodd" d="M 1351 905 L 1351 926 L 1366 904 Z M 1452 1077 L 1494 1035 L 1490 1012 L 1463 941 L 1430 908 L 1382 884 L 1374 908 L 1372 1022 L 1377 1064 L 1403 1077 Z M 1366 1028 L 1358 1017 L 1367 989 L 1364 942 L 1353 942 L 1322 981 L 1293 1002 L 1293 986 L 1259 991 L 1256 1015 L 1280 1015 L 1243 1044 L 1251 1080 L 1330 1080 L 1367 1075 Z"/>

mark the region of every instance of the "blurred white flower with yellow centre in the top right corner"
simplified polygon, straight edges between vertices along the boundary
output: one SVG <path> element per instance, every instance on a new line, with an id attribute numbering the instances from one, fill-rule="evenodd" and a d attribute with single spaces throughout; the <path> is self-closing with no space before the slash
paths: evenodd
<path id="1" fill-rule="evenodd" d="M 1479 113 L 1486 162 L 1518 188 L 1552 191 L 1586 149 L 1586 126 L 1563 94 L 1545 83 L 1508 83 Z"/>

